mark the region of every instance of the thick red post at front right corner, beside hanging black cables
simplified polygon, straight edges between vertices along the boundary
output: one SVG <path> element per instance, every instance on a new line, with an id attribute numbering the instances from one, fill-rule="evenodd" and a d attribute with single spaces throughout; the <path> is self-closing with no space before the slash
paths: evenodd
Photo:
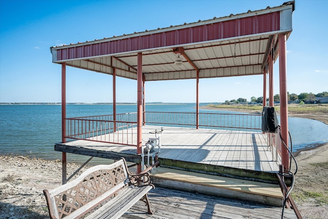
<path id="1" fill-rule="evenodd" d="M 288 147 L 288 96 L 287 96 L 287 61 L 286 61 L 286 35 L 278 35 L 279 44 L 279 87 L 280 87 L 280 134 Z M 281 145 L 283 143 L 281 142 Z M 289 155 L 285 147 L 281 147 L 281 164 L 289 169 Z"/>

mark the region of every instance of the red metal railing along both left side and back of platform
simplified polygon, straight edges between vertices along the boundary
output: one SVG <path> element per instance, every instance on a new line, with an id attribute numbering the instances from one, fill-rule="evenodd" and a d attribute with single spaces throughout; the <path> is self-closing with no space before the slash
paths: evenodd
<path id="1" fill-rule="evenodd" d="M 66 138 L 136 146 L 137 113 L 66 118 Z M 146 112 L 145 124 L 196 127 L 196 113 Z M 199 113 L 199 126 L 261 129 L 259 114 Z"/>

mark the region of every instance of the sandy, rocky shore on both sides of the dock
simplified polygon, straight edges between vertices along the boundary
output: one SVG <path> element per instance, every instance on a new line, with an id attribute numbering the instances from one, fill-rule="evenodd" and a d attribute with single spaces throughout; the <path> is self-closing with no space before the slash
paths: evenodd
<path id="1" fill-rule="evenodd" d="M 303 218 L 328 218 L 328 144 L 302 151 L 296 159 L 298 173 L 292 195 Z M 78 167 L 68 164 L 68 172 Z M 60 161 L 1 155 L 0 218 L 48 218 L 42 191 L 60 184 Z"/>

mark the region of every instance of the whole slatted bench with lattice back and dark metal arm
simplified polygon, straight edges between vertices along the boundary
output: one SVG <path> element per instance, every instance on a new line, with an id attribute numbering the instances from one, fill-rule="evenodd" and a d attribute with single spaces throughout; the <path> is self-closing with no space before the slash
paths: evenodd
<path id="1" fill-rule="evenodd" d="M 151 211 L 147 193 L 155 188 L 149 173 L 131 174 L 124 158 L 97 165 L 75 180 L 53 190 L 43 190 L 50 218 L 119 218 L 138 200 Z"/>

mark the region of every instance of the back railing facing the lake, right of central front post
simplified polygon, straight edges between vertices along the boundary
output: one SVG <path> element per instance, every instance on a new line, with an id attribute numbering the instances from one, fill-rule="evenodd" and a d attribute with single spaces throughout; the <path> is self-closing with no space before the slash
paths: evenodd
<path id="1" fill-rule="evenodd" d="M 196 127 L 196 113 L 146 112 L 145 123 Z M 200 127 L 261 129 L 260 114 L 199 113 Z"/>

